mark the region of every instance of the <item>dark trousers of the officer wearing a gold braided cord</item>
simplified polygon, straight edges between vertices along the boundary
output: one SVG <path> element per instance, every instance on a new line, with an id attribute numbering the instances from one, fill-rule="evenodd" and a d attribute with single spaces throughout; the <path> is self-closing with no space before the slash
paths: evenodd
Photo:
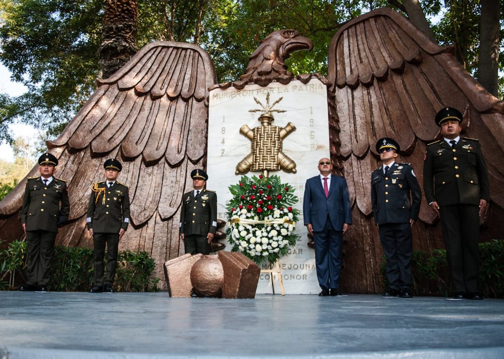
<path id="1" fill-rule="evenodd" d="M 119 246 L 119 233 L 93 233 L 94 242 L 94 281 L 95 286 L 114 284 L 115 268 L 117 267 L 117 251 Z M 105 257 L 105 244 L 107 244 L 107 272 L 103 281 L 103 258 Z"/>

